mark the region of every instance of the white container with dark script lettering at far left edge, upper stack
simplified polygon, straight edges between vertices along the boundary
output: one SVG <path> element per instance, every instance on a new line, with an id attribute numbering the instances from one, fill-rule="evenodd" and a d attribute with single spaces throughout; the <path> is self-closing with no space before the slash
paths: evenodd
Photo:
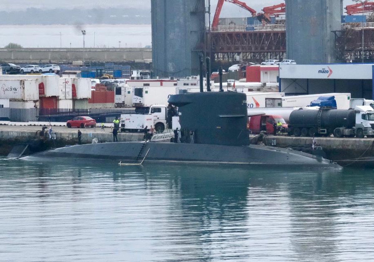
<path id="1" fill-rule="evenodd" d="M 10 100 L 39 100 L 37 79 L 0 79 L 0 98 Z"/>

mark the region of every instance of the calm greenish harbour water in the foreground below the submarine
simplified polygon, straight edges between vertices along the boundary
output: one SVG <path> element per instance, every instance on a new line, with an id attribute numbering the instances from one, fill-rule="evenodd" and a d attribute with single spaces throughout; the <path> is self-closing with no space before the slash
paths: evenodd
<path id="1" fill-rule="evenodd" d="M 0 261 L 373 261 L 373 170 L 0 159 Z"/>

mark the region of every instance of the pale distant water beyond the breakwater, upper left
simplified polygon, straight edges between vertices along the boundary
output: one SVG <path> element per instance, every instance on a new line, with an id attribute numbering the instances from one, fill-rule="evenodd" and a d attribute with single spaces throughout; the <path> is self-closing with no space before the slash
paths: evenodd
<path id="1" fill-rule="evenodd" d="M 151 45 L 151 25 L 2 25 L 0 47 L 17 43 L 24 48 L 144 48 Z"/>

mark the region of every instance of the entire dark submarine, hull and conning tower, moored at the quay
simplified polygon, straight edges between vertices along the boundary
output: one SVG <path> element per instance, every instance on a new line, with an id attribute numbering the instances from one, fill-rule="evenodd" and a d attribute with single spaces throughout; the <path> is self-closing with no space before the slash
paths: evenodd
<path id="1" fill-rule="evenodd" d="M 199 164 L 253 164 L 267 167 L 295 166 L 340 168 L 324 158 L 292 149 L 249 145 L 246 129 L 246 95 L 237 92 L 199 92 L 172 95 L 179 107 L 182 129 L 193 130 L 194 143 L 111 142 L 52 149 L 24 157 L 55 161 L 105 159 L 136 164 L 183 162 Z M 66 161 L 66 160 L 65 160 Z"/>

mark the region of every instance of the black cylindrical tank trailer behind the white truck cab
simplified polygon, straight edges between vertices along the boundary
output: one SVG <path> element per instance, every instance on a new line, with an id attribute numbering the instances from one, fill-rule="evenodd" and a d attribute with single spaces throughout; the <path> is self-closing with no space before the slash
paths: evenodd
<path id="1" fill-rule="evenodd" d="M 313 137 L 314 134 L 341 137 L 344 130 L 347 136 L 354 136 L 356 111 L 354 109 L 299 109 L 291 112 L 288 128 L 290 134 Z"/>

